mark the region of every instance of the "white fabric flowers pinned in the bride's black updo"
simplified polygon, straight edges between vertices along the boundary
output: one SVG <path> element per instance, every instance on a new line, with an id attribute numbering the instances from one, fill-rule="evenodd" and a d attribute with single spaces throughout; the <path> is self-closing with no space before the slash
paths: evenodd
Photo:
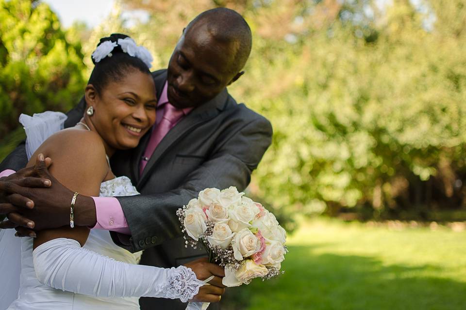
<path id="1" fill-rule="evenodd" d="M 152 55 L 150 55 L 149 50 L 146 47 L 137 46 L 136 42 L 134 42 L 130 37 L 118 39 L 117 43 L 112 41 L 105 41 L 101 43 L 94 53 L 92 53 L 94 62 L 98 63 L 105 57 L 112 57 L 112 51 L 118 45 L 124 53 L 127 53 L 132 57 L 139 58 L 149 69 L 152 67 L 153 58 Z"/>

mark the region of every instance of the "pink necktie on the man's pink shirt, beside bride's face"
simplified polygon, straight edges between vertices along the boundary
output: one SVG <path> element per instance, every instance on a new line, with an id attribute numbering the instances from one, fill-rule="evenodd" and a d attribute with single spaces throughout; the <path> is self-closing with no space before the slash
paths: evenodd
<path id="1" fill-rule="evenodd" d="M 160 141 L 164 139 L 166 133 L 173 128 L 173 126 L 183 116 L 183 110 L 173 107 L 170 103 L 166 103 L 164 107 L 164 116 L 157 124 L 157 127 L 150 135 L 149 144 L 147 145 L 146 151 L 144 151 L 144 157 L 141 160 L 139 173 L 142 174 L 144 168 L 149 161 L 150 156 L 154 153 L 155 148 L 159 145 Z"/>

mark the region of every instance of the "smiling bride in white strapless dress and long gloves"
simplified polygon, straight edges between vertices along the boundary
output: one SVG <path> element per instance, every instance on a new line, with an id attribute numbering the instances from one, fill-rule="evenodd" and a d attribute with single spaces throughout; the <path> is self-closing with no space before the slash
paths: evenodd
<path id="1" fill-rule="evenodd" d="M 203 286 L 205 279 L 198 279 L 189 267 L 193 262 L 170 269 L 137 265 L 141 252 L 119 248 L 108 231 L 74 227 L 73 207 L 80 194 L 138 194 L 129 178 L 115 177 L 109 157 L 116 150 L 136 147 L 156 119 L 151 57 L 144 47 L 115 34 L 100 39 L 92 59 L 95 67 L 85 89 L 87 110 L 81 122 L 53 133 L 56 130 L 50 128 L 65 115 L 46 112 L 20 119 L 28 132 L 28 166 L 44 155 L 53 158 L 49 171 L 75 194 L 69 227 L 21 238 L 19 294 L 8 309 L 139 309 L 141 296 L 186 302 L 197 295 L 197 301 L 218 301 L 224 291 Z"/>

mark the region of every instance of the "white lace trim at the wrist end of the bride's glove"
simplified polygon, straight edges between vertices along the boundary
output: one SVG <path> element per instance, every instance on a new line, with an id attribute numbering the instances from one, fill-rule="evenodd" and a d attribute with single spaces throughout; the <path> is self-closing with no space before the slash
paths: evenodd
<path id="1" fill-rule="evenodd" d="M 204 282 L 196 278 L 191 268 L 179 266 L 171 270 L 173 273 L 168 277 L 167 293 L 172 298 L 180 298 L 182 302 L 193 299 Z"/>

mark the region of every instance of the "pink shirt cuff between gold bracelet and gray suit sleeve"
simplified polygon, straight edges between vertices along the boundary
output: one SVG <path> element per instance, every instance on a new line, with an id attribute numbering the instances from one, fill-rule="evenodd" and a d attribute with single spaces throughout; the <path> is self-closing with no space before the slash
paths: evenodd
<path id="1" fill-rule="evenodd" d="M 92 197 L 96 204 L 97 224 L 93 229 L 103 229 L 130 235 L 125 214 L 115 197 Z"/>

